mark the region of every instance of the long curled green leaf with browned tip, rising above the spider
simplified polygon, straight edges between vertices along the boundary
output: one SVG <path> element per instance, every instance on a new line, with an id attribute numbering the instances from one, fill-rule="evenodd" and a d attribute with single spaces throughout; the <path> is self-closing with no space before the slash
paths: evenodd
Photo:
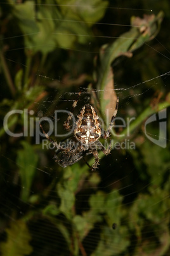
<path id="1" fill-rule="evenodd" d="M 110 81 L 110 65 L 120 55 L 132 57 L 132 52 L 134 50 L 150 39 L 153 39 L 157 32 L 159 32 L 162 18 L 162 12 L 157 16 L 145 15 L 143 19 L 135 17 L 133 18 L 133 23 L 138 25 L 133 26 L 128 32 L 121 34 L 114 43 L 110 45 L 103 45 L 101 47 L 97 89 L 100 92 L 100 97 L 98 98 L 100 98 L 101 112 L 103 115 L 105 114 L 105 108 L 108 104 L 108 99 L 105 99 L 104 94 L 105 87 Z M 143 23 L 145 24 L 145 27 L 143 27 Z"/>

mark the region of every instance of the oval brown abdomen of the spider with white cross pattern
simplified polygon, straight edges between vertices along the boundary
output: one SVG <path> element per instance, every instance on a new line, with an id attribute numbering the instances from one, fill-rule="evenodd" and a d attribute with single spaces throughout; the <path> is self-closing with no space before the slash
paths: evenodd
<path id="1" fill-rule="evenodd" d="M 100 138 L 100 122 L 93 106 L 84 105 L 77 118 L 74 135 L 78 141 L 88 145 Z"/>

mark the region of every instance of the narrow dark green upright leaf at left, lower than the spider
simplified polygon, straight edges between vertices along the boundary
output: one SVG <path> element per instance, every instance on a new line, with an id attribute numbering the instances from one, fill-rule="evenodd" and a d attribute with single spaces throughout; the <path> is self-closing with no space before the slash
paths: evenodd
<path id="1" fill-rule="evenodd" d="M 22 141 L 21 144 L 23 149 L 18 150 L 16 164 L 18 164 L 22 182 L 21 199 L 27 202 L 29 199 L 30 187 L 36 174 L 38 157 L 29 143 Z"/>

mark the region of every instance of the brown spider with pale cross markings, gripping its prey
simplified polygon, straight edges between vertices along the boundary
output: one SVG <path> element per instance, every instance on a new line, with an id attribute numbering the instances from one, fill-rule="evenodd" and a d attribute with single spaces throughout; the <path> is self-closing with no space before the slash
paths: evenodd
<path id="1" fill-rule="evenodd" d="M 79 93 L 80 95 L 80 93 Z M 75 100 L 73 103 L 73 110 L 75 106 L 77 106 L 77 101 Z M 74 136 L 72 139 L 67 139 L 67 143 L 57 143 L 53 141 L 53 139 L 49 138 L 48 134 L 44 131 L 41 126 L 42 132 L 46 136 L 46 138 L 53 143 L 53 145 L 57 148 L 55 161 L 62 167 L 67 167 L 75 162 L 82 159 L 86 155 L 93 154 L 95 157 L 95 162 L 91 167 L 92 171 L 98 168 L 99 157 L 98 150 L 102 150 L 105 155 L 108 155 L 111 151 L 111 139 L 110 139 L 110 131 L 114 126 L 115 117 L 117 115 L 119 104 L 119 97 L 117 97 L 117 102 L 115 106 L 114 115 L 111 118 L 110 125 L 106 131 L 101 128 L 99 117 L 96 113 L 95 108 L 90 104 L 86 104 L 82 107 L 79 115 L 77 115 L 77 120 L 75 122 L 74 127 Z M 72 120 L 72 113 L 69 114 L 69 117 L 64 123 L 64 127 L 67 130 L 70 130 L 70 120 Z M 110 139 L 110 144 L 106 149 L 101 142 L 100 138 Z M 89 166 L 89 165 L 88 165 Z"/>

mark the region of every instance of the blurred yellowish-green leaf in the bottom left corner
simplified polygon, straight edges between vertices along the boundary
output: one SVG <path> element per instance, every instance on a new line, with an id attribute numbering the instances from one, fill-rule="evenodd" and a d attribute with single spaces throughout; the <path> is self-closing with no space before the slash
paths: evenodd
<path id="1" fill-rule="evenodd" d="M 1 243 L 2 256 L 30 255 L 32 246 L 29 245 L 31 236 L 27 225 L 22 220 L 11 222 L 10 228 L 6 229 L 7 240 Z"/>

